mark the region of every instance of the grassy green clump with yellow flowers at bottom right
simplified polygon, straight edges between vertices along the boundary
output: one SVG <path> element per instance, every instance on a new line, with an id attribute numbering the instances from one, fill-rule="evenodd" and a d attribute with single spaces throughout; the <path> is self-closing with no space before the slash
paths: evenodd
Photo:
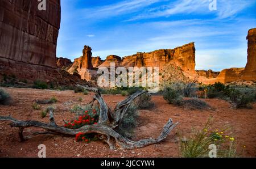
<path id="1" fill-rule="evenodd" d="M 187 140 L 179 139 L 180 155 L 183 158 L 209 157 L 209 145 L 217 146 L 217 157 L 238 157 L 236 141 L 219 130 L 209 131 L 209 121 L 203 130 L 192 130 Z"/>

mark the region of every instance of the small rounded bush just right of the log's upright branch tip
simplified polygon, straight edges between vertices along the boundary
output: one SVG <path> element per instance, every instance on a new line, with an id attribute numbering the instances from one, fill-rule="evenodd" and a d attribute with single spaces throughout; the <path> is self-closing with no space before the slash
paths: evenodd
<path id="1" fill-rule="evenodd" d="M 151 99 L 151 94 L 143 94 L 135 100 L 135 103 L 138 105 L 139 109 L 151 109 L 155 106 Z"/>

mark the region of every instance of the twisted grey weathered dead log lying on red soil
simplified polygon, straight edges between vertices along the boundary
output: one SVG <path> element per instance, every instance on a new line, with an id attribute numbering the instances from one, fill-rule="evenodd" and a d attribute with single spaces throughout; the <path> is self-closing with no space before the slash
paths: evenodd
<path id="1" fill-rule="evenodd" d="M 139 141 L 131 141 L 126 137 L 121 136 L 118 132 L 116 132 L 116 128 L 122 121 L 127 109 L 131 105 L 132 101 L 137 98 L 138 96 L 146 93 L 147 91 L 139 91 L 135 94 L 129 96 L 122 102 L 118 103 L 115 107 L 114 111 L 112 112 L 111 109 L 106 104 L 105 100 L 102 98 L 100 91 L 97 88 L 93 87 L 84 87 L 86 90 L 95 92 L 96 95 L 93 97 L 93 102 L 97 100 L 99 107 L 100 107 L 100 117 L 98 124 L 94 125 L 85 125 L 79 129 L 68 129 L 64 128 L 63 126 L 58 126 L 55 122 L 53 117 L 53 109 L 48 109 L 49 111 L 49 124 L 40 122 L 40 121 L 20 121 L 14 119 L 13 117 L 4 117 L 0 116 L 0 120 L 2 121 L 10 121 L 11 126 L 19 128 L 19 138 L 20 141 L 24 141 L 23 137 L 23 129 L 28 127 L 36 127 L 46 129 L 45 132 L 37 132 L 34 135 L 38 134 L 60 134 L 64 136 L 71 136 L 75 137 L 77 133 L 97 133 L 99 138 L 108 143 L 110 149 L 116 149 L 117 147 L 121 149 L 134 149 L 135 147 L 144 147 L 148 145 L 152 145 L 163 141 L 167 138 L 168 134 L 171 132 L 172 129 L 175 128 L 177 125 L 172 122 L 170 119 L 166 125 L 164 125 L 160 136 L 156 139 L 148 138 Z M 93 103 L 92 102 L 92 103 Z"/>

